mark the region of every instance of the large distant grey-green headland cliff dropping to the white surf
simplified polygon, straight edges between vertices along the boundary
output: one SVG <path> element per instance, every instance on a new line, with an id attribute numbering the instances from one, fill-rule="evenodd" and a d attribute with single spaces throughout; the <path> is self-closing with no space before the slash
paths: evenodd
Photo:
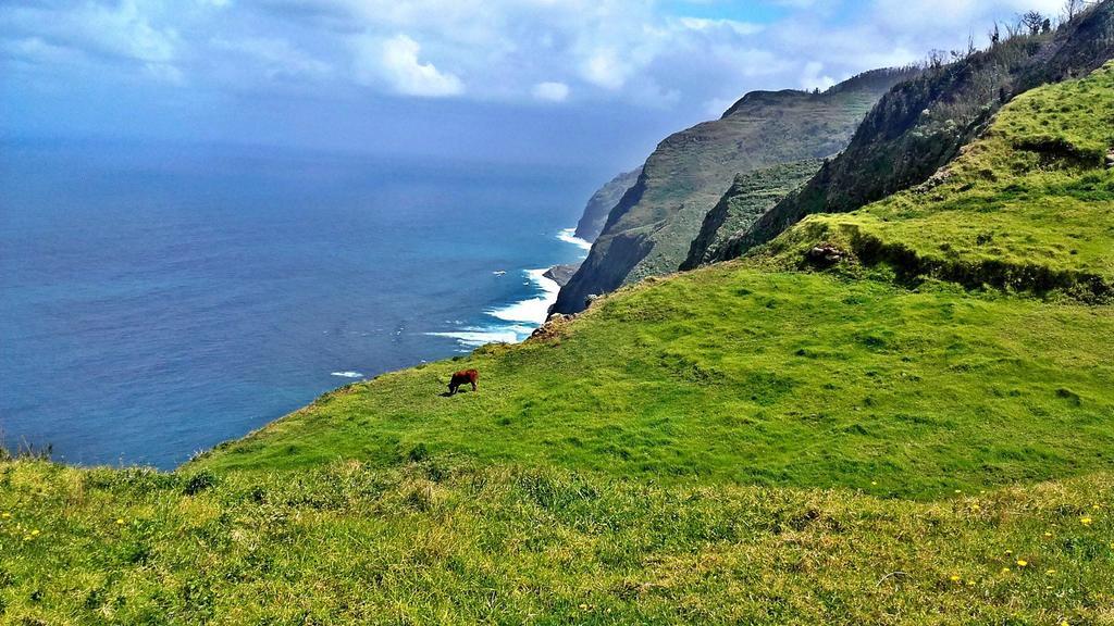
<path id="1" fill-rule="evenodd" d="M 555 311 L 577 312 L 590 294 L 676 271 L 736 174 L 838 153 L 882 94 L 913 74 L 872 71 L 823 94 L 755 91 L 722 118 L 668 137 L 612 209 Z"/>

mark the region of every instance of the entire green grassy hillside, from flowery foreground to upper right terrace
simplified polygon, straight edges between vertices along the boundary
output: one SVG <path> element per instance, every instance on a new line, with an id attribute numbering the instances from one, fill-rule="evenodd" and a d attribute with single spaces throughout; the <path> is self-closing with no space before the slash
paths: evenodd
<path id="1" fill-rule="evenodd" d="M 173 473 L 0 461 L 0 619 L 1110 624 L 1112 111 Z"/>

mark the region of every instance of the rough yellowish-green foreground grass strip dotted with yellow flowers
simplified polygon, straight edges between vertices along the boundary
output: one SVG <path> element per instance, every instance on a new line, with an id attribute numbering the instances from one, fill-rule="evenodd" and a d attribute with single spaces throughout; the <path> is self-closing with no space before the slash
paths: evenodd
<path id="1" fill-rule="evenodd" d="M 6 624 L 1114 620 L 1111 475 L 928 503 L 430 461 L 0 487 Z"/>

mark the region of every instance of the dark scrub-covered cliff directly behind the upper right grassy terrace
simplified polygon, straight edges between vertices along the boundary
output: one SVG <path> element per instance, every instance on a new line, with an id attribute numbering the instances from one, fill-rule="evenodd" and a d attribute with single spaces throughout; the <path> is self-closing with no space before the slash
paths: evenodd
<path id="1" fill-rule="evenodd" d="M 1083 76 L 1114 56 L 1114 0 L 1053 33 L 1016 37 L 926 70 L 896 87 L 850 145 L 804 185 L 721 247 L 730 260 L 813 213 L 854 211 L 927 180 L 990 123 L 1005 102 L 1046 82 Z"/>

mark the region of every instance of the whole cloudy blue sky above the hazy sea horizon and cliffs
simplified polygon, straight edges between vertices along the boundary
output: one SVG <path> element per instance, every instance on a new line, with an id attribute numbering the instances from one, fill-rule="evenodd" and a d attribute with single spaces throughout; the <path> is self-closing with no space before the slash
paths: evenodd
<path id="1" fill-rule="evenodd" d="M 755 89 L 1062 0 L 2 0 L 0 140 L 629 168 Z"/>

